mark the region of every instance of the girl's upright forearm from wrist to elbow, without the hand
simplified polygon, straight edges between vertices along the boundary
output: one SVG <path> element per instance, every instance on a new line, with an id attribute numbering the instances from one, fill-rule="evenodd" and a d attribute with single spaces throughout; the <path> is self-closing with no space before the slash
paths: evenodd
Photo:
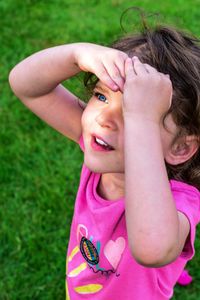
<path id="1" fill-rule="evenodd" d="M 159 125 L 125 117 L 126 221 L 133 255 L 147 263 L 169 254 L 179 235 Z"/>

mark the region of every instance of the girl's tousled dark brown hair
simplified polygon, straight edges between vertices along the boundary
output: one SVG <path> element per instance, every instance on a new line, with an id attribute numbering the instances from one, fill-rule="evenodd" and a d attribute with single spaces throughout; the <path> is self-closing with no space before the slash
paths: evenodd
<path id="1" fill-rule="evenodd" d="M 167 112 L 179 128 L 180 135 L 200 138 L 200 44 L 199 40 L 168 26 L 145 27 L 140 34 L 115 41 L 111 47 L 136 55 L 159 72 L 169 74 L 173 85 L 172 105 Z M 94 87 L 98 79 L 92 74 L 85 85 Z M 166 115 L 167 115 L 166 114 Z M 166 117 L 165 115 L 165 117 Z M 164 119 L 163 119 L 164 122 Z M 166 163 L 169 179 L 200 189 L 200 150 L 187 162 L 172 166 Z"/>

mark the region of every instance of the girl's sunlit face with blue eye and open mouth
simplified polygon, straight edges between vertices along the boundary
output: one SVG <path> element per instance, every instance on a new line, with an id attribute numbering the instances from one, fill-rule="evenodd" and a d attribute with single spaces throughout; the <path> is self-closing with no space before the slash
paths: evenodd
<path id="1" fill-rule="evenodd" d="M 124 120 L 121 92 L 113 92 L 100 81 L 83 115 L 84 162 L 96 173 L 124 173 Z M 161 128 L 161 142 L 166 156 L 177 127 L 169 115 Z M 170 132 L 169 132 L 170 131 Z"/>

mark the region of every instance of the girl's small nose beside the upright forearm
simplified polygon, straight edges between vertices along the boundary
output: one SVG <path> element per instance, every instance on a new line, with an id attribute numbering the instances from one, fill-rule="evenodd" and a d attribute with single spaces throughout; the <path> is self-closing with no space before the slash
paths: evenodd
<path id="1" fill-rule="evenodd" d="M 122 108 L 105 107 L 99 112 L 95 120 L 101 127 L 116 130 L 119 123 L 122 122 Z"/>

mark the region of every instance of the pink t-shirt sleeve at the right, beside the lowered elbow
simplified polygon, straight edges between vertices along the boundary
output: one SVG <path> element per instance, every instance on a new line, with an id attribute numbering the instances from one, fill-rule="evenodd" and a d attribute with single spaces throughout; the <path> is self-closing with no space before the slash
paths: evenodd
<path id="1" fill-rule="evenodd" d="M 190 224 L 190 233 L 180 255 L 190 260 L 195 253 L 196 225 L 200 221 L 200 193 L 195 187 L 180 181 L 171 180 L 170 184 L 177 211 L 183 213 Z"/>

